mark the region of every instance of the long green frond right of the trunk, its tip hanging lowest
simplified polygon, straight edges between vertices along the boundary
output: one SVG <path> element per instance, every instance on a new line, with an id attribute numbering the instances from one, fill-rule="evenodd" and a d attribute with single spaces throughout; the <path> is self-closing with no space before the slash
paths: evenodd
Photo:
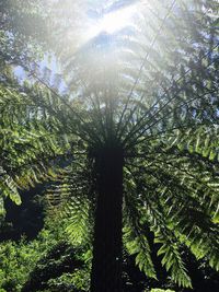
<path id="1" fill-rule="evenodd" d="M 162 244 L 158 255 L 162 255 L 162 265 L 171 273 L 173 281 L 183 287 L 192 287 L 191 279 L 187 275 L 185 264 L 182 259 L 180 246 L 181 242 L 177 240 L 174 231 L 169 224 L 164 210 L 161 206 L 159 195 L 154 188 L 154 183 L 148 180 L 147 188 L 142 184 L 142 178 L 138 182 L 135 178 L 135 188 L 138 191 L 138 203 L 140 218 L 145 225 L 150 226 L 150 230 L 154 233 L 154 243 Z M 151 188 L 149 188 L 149 184 Z M 131 210 L 130 210 L 131 212 Z M 141 223 L 142 224 L 142 223 Z M 142 234 L 143 229 L 140 234 Z"/>

